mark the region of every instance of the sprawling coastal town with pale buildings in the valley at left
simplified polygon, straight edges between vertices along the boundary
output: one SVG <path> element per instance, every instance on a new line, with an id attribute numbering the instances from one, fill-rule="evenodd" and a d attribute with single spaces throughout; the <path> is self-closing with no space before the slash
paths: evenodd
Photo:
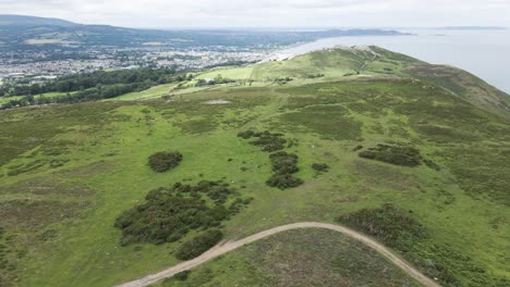
<path id="1" fill-rule="evenodd" d="M 211 49 L 97 48 L 97 49 L 41 49 L 0 52 L 0 85 L 16 82 L 21 85 L 44 84 L 58 76 L 94 71 L 134 68 L 170 68 L 197 71 L 205 67 L 252 63 L 268 55 L 265 50 L 216 47 Z"/>

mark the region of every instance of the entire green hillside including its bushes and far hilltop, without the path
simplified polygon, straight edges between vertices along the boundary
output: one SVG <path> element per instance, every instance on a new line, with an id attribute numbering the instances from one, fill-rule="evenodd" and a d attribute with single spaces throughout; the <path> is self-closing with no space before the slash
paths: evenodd
<path id="1" fill-rule="evenodd" d="M 214 245 L 211 233 L 309 221 L 361 230 L 442 286 L 509 284 L 508 95 L 376 47 L 196 78 L 217 74 L 241 76 L 0 111 L 0 286 L 112 286 L 178 263 L 183 246 Z M 149 157 L 162 151 L 182 160 L 155 158 L 169 167 L 155 171 Z M 304 273 L 301 286 L 414 286 L 342 240 L 280 234 L 161 284 L 264 286 Z M 385 267 L 362 278 L 365 264 Z"/>

